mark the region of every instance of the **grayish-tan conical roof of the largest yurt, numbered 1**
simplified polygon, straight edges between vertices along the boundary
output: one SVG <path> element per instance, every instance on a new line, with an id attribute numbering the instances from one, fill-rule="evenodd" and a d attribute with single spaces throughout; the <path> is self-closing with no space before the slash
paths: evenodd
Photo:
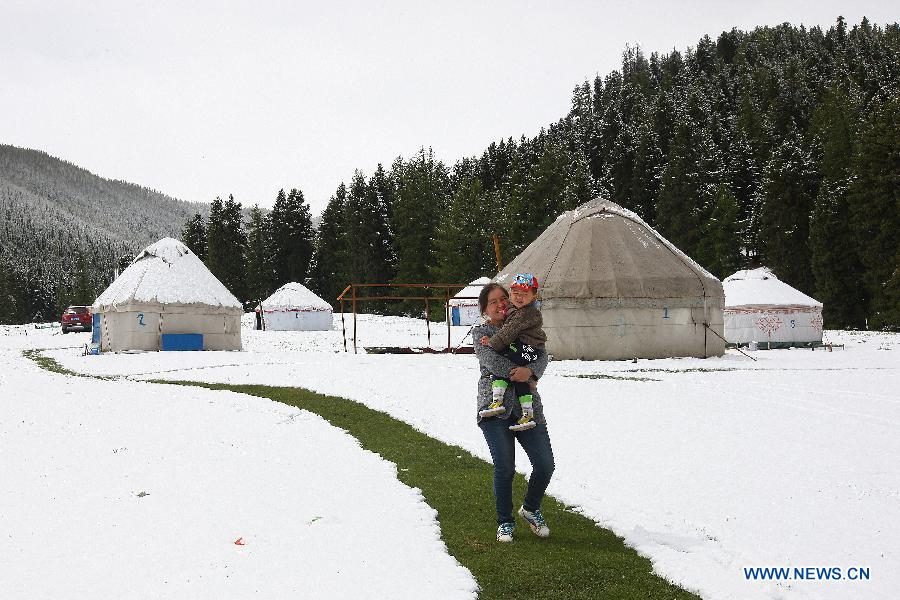
<path id="1" fill-rule="evenodd" d="M 637 214 L 597 198 L 561 214 L 495 278 L 538 278 L 544 298 L 721 298 L 722 283 Z"/>

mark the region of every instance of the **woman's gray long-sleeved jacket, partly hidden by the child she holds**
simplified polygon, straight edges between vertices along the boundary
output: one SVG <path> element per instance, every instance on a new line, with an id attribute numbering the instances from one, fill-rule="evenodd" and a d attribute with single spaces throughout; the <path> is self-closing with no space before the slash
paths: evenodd
<path id="1" fill-rule="evenodd" d="M 475 357 L 478 358 L 478 366 L 481 367 L 481 377 L 478 378 L 478 409 L 475 412 L 476 416 L 479 411 L 487 408 L 488 404 L 493 400 L 491 394 L 491 380 L 494 377 L 509 379 L 510 369 L 516 366 L 505 356 L 497 354 L 490 346 L 481 345 L 479 340 L 482 336 L 486 335 L 487 337 L 491 337 L 498 331 L 500 331 L 500 328 L 491 325 L 490 323 L 476 325 L 472 328 L 472 341 L 475 346 Z M 527 366 L 531 369 L 536 378 L 540 378 L 544 374 L 544 369 L 547 368 L 549 362 L 550 358 L 547 356 L 547 353 L 541 352 L 540 358 L 532 363 L 528 363 Z M 534 420 L 538 423 L 545 423 L 541 395 L 537 390 L 534 390 L 532 397 L 533 402 L 531 406 L 534 409 Z M 510 417 L 518 419 L 522 416 L 522 406 L 519 404 L 519 399 L 516 398 L 513 386 L 506 388 L 506 395 L 503 397 L 503 405 L 506 407 L 506 412 L 496 417 L 490 417 L 491 419 L 508 419 Z M 481 421 L 481 417 L 477 416 L 477 420 Z"/>

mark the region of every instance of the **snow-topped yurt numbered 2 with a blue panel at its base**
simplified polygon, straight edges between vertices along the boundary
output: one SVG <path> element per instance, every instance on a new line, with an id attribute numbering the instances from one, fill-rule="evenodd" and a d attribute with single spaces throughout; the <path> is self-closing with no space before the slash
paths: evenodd
<path id="1" fill-rule="evenodd" d="M 100 294 L 100 351 L 240 350 L 243 307 L 187 246 L 147 246 Z"/>

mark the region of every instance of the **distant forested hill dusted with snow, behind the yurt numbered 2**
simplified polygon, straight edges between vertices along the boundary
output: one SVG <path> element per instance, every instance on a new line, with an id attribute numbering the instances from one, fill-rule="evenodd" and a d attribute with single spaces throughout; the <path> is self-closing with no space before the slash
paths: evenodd
<path id="1" fill-rule="evenodd" d="M 0 144 L 0 323 L 90 303 L 123 255 L 179 237 L 209 206 Z"/>

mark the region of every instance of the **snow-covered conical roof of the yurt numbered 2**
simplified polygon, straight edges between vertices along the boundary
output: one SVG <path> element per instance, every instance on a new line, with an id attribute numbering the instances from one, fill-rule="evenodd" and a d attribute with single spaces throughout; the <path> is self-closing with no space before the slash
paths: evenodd
<path id="1" fill-rule="evenodd" d="M 100 294 L 94 310 L 140 304 L 241 309 L 241 303 L 187 246 L 163 238 L 147 246 Z"/>

